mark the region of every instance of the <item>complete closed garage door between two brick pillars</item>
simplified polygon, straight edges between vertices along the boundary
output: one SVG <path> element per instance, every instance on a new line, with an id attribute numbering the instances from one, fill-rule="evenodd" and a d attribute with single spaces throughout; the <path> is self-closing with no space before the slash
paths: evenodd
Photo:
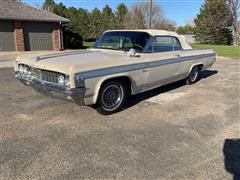
<path id="1" fill-rule="evenodd" d="M 24 23 L 26 51 L 53 50 L 51 23 Z"/>

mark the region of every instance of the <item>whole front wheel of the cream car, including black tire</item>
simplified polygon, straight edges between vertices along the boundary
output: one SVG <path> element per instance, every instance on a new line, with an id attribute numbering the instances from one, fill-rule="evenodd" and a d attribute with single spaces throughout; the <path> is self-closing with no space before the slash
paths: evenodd
<path id="1" fill-rule="evenodd" d="M 126 100 L 126 86 L 121 81 L 105 83 L 99 92 L 99 111 L 102 114 L 118 112 Z"/>

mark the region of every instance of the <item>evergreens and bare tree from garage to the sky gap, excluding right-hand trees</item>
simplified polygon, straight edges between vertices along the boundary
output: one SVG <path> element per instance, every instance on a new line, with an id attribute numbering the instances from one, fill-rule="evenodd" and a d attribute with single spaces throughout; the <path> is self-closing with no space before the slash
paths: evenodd
<path id="1" fill-rule="evenodd" d="M 94 8 L 88 11 L 83 8 L 66 7 L 54 0 L 45 0 L 43 9 L 70 20 L 63 24 L 65 48 L 79 48 L 82 41 L 96 40 L 104 31 L 114 29 L 146 29 L 149 23 L 148 2 L 135 3 L 130 9 L 120 3 L 113 11 L 108 5 L 102 10 Z M 175 31 L 173 21 L 168 20 L 162 8 L 154 3 L 152 28 Z"/>

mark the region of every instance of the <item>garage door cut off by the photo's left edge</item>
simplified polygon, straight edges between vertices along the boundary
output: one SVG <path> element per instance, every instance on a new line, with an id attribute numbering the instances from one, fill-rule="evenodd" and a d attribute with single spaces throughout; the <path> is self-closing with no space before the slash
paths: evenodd
<path id="1" fill-rule="evenodd" d="M 0 51 L 15 51 L 13 22 L 0 21 Z"/>

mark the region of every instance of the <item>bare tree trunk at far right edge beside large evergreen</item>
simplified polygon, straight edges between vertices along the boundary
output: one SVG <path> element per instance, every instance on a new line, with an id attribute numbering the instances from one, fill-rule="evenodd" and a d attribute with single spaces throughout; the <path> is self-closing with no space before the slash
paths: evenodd
<path id="1" fill-rule="evenodd" d="M 238 45 L 238 10 L 240 7 L 239 0 L 227 0 L 232 18 L 232 31 L 233 31 L 233 45 Z"/>

